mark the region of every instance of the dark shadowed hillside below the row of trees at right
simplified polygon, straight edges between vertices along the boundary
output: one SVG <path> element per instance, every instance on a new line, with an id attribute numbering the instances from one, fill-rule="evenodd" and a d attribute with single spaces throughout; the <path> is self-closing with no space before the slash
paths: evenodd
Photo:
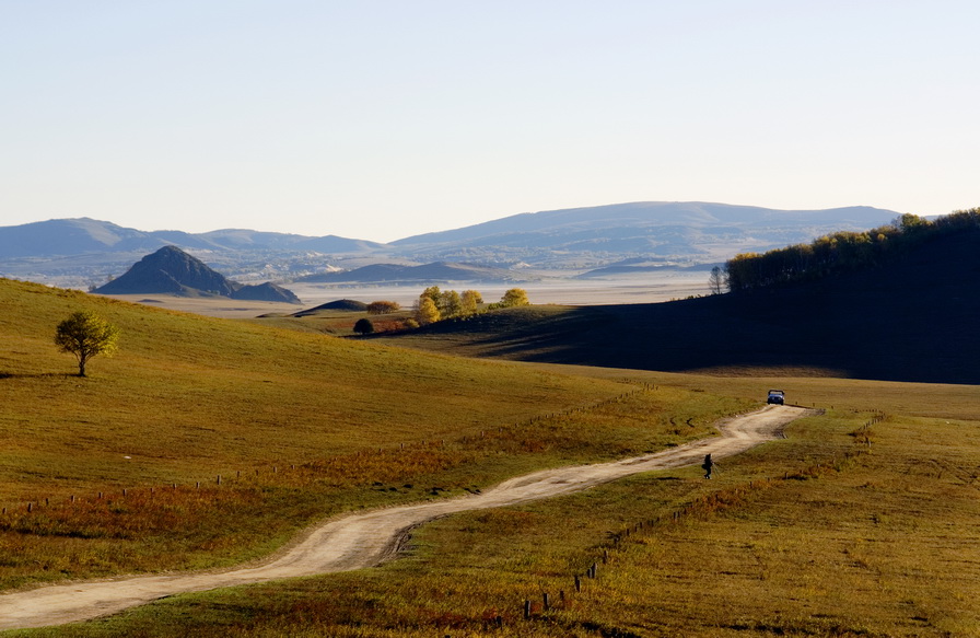
<path id="1" fill-rule="evenodd" d="M 395 343 L 610 368 L 980 384 L 977 281 L 980 231 L 967 231 L 817 281 L 669 303 L 512 309 Z"/>

